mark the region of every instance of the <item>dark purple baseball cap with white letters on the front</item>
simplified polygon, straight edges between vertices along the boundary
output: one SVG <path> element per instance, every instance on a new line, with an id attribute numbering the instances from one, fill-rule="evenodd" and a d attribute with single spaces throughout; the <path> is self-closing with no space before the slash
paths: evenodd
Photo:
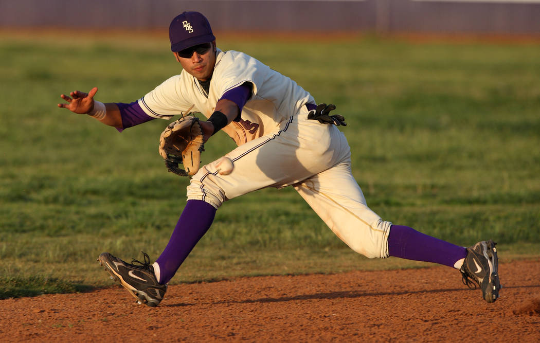
<path id="1" fill-rule="evenodd" d="M 215 40 L 208 19 L 199 12 L 184 12 L 172 19 L 169 38 L 173 52 Z"/>

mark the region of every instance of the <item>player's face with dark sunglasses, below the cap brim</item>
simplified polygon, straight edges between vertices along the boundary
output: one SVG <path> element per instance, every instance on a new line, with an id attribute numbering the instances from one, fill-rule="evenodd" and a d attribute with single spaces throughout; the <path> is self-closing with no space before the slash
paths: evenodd
<path id="1" fill-rule="evenodd" d="M 215 41 L 175 52 L 174 56 L 186 72 L 201 81 L 206 81 L 212 77 L 214 72 Z"/>

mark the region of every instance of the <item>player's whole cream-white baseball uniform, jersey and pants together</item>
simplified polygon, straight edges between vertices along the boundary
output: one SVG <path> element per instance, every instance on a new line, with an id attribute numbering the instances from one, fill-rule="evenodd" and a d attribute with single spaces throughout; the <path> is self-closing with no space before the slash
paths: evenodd
<path id="1" fill-rule="evenodd" d="M 218 209 L 229 199 L 265 187 L 292 185 L 332 231 L 354 251 L 370 258 L 388 257 L 392 223 L 366 205 L 350 171 L 350 150 L 334 125 L 307 119 L 313 97 L 290 78 L 237 51 L 218 50 L 208 94 L 183 71 L 139 100 L 147 115 L 203 113 L 207 118 L 221 96 L 245 82 L 252 97 L 240 122 L 224 127 L 238 147 L 225 157 L 232 171 L 220 174 L 222 158 L 192 177 L 187 198 Z M 211 143 L 211 142 L 210 142 Z"/>

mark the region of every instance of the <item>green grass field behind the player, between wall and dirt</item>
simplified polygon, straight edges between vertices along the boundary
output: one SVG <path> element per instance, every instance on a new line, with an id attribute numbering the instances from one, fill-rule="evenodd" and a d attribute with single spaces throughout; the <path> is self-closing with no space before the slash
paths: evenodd
<path id="1" fill-rule="evenodd" d="M 225 36 L 218 46 L 338 106 L 354 176 L 384 219 L 463 246 L 492 238 L 502 262 L 539 257 L 540 45 Z M 92 86 L 102 102 L 143 96 L 180 72 L 167 37 L 3 32 L 0 62 L 0 299 L 111 285 L 103 251 L 156 259 L 188 185 L 157 153 L 167 122 L 120 134 L 56 104 Z M 219 133 L 203 162 L 233 147 Z M 172 283 L 425 265 L 363 258 L 294 190 L 268 189 L 222 206 Z"/>

